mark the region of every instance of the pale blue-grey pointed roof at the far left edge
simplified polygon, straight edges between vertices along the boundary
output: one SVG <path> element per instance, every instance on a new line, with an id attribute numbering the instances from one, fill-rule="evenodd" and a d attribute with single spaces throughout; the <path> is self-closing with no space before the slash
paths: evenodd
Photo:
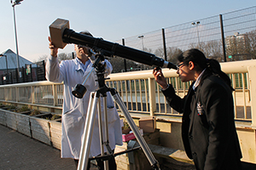
<path id="1" fill-rule="evenodd" d="M 6 50 L 2 54 L 7 56 L 8 69 L 17 68 L 17 56 L 11 49 Z M 24 67 L 25 65 L 32 64 L 30 60 L 25 59 L 20 55 L 19 55 L 19 62 L 20 62 L 20 68 L 22 66 Z M 0 70 L 5 70 L 5 69 L 6 69 L 6 59 L 5 59 L 5 56 L 2 56 L 0 57 Z"/>

